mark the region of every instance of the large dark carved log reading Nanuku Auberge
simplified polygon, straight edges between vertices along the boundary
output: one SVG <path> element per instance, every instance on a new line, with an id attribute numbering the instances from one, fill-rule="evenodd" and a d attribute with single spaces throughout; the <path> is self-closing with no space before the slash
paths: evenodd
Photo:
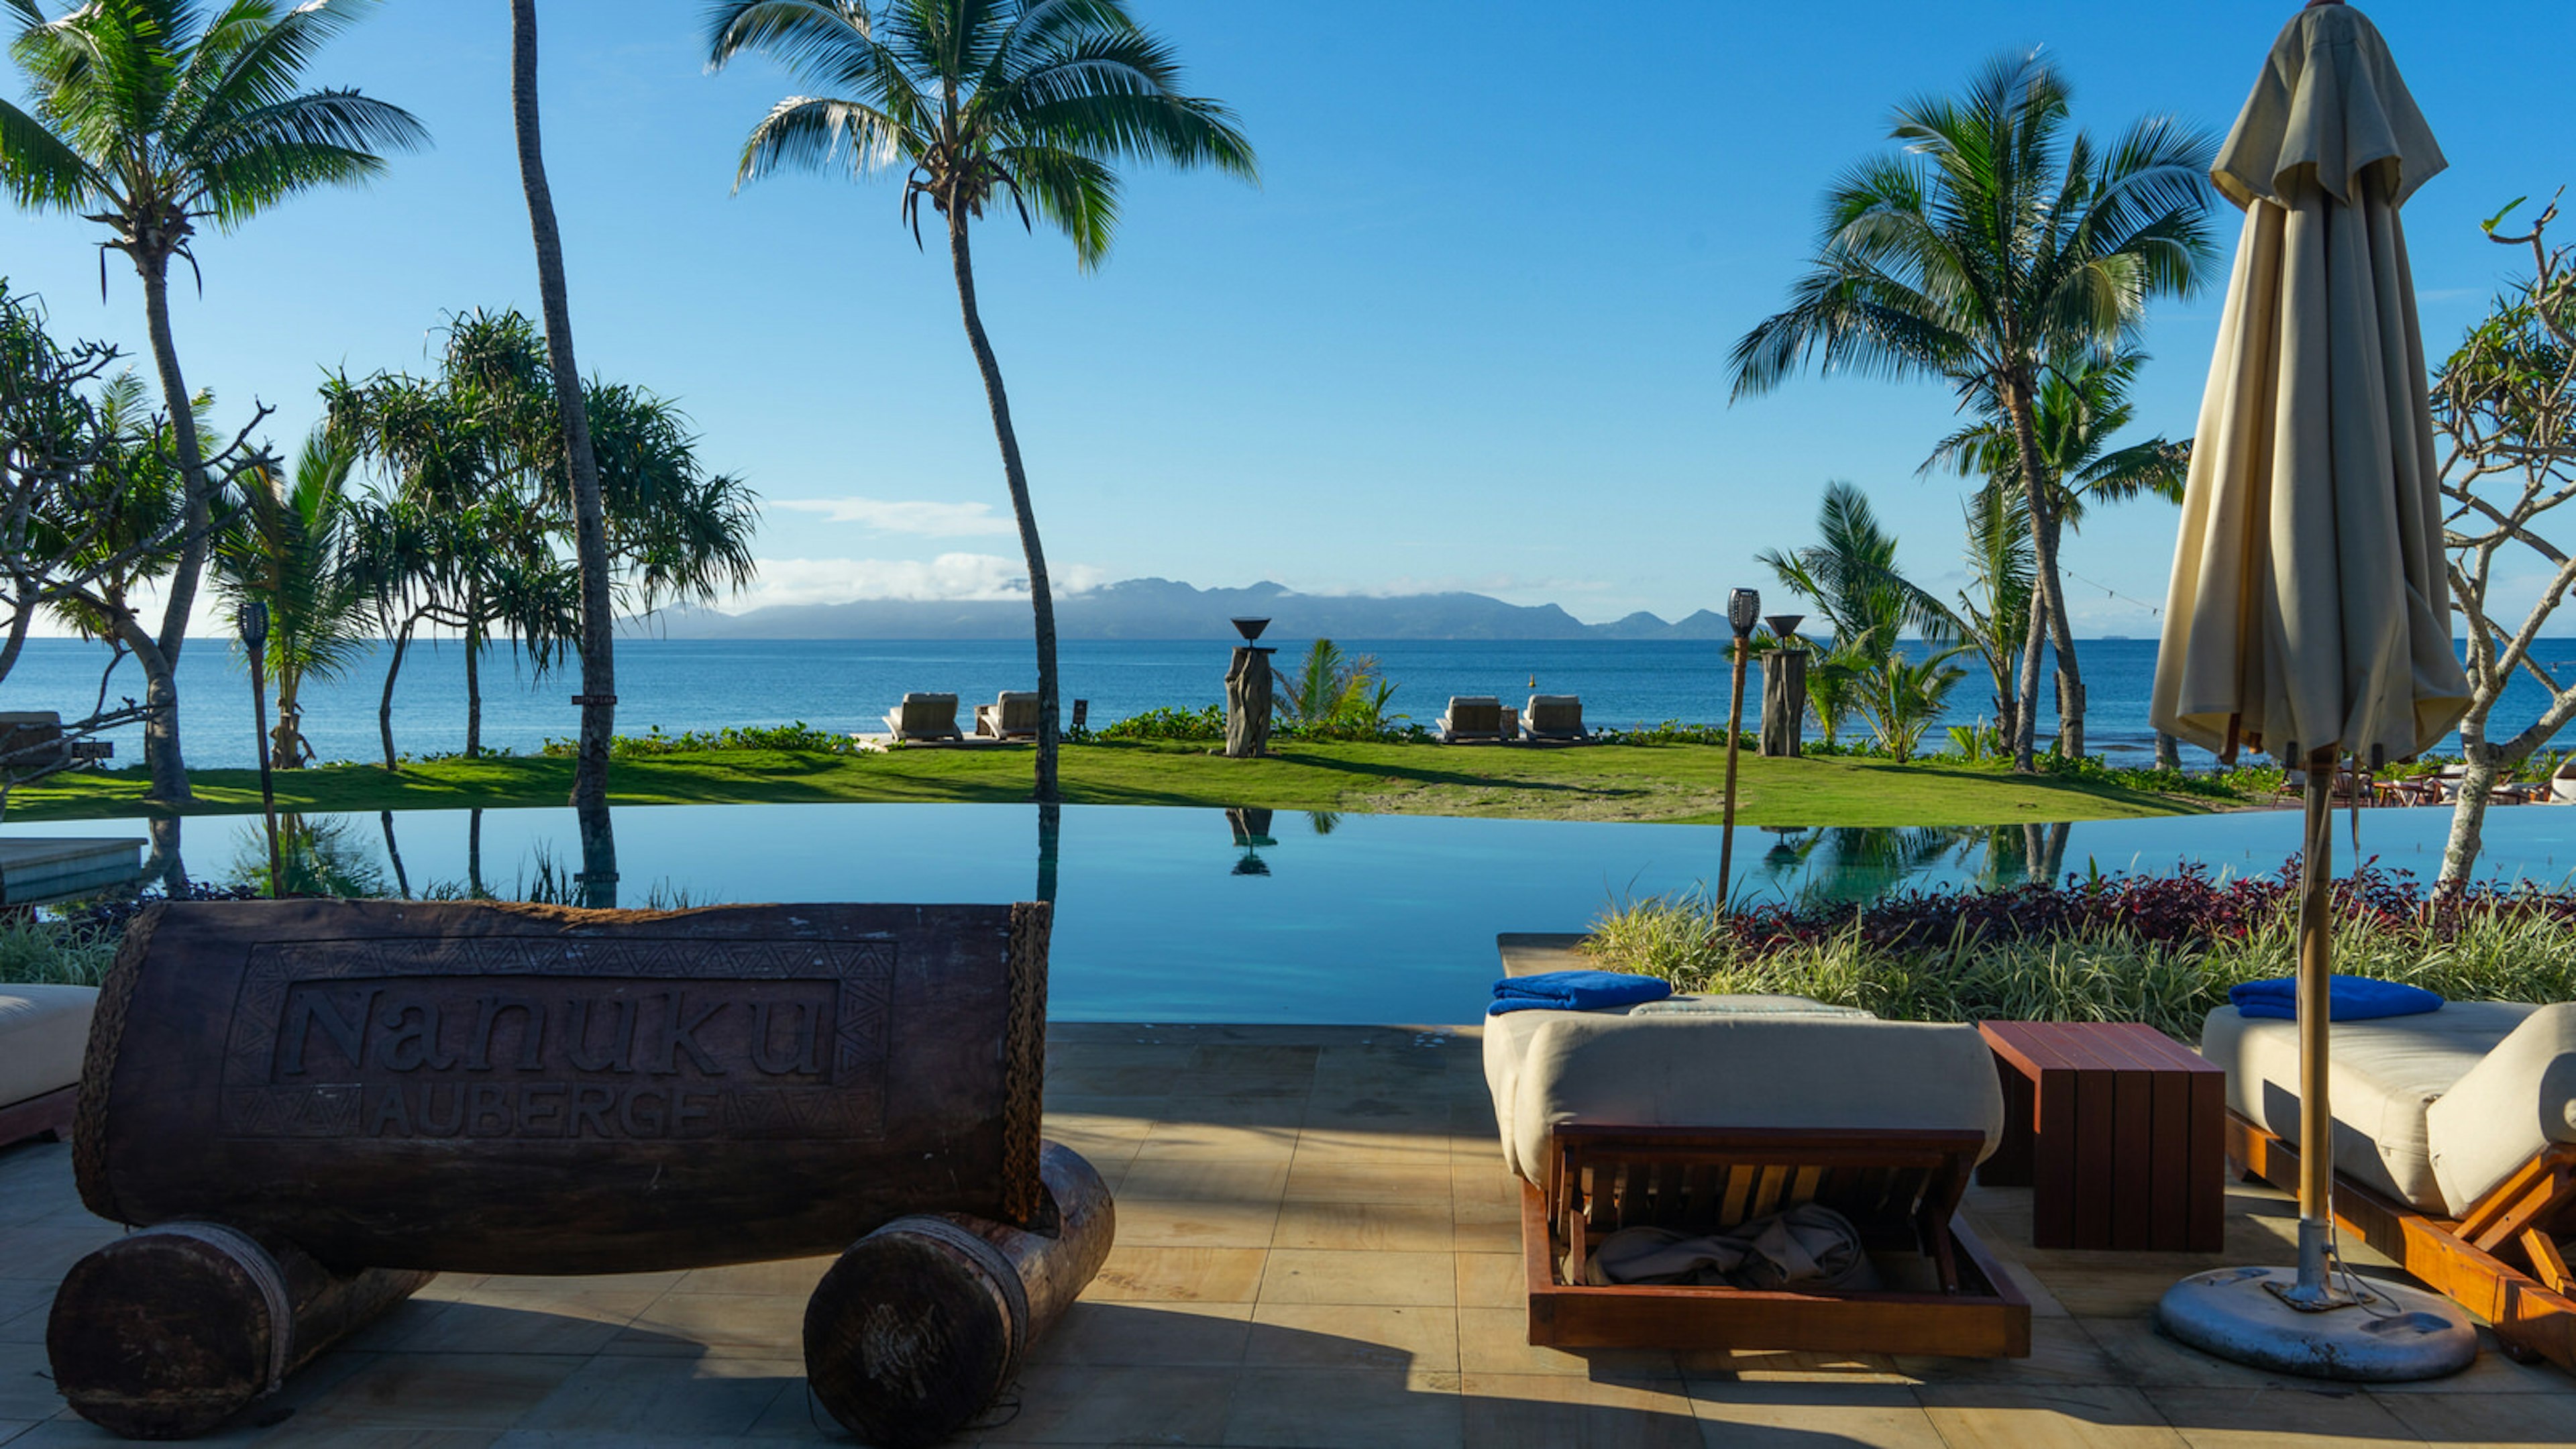
<path id="1" fill-rule="evenodd" d="M 80 1196 L 471 1274 L 1030 1222 L 1046 928 L 1046 905 L 157 905 L 100 990 Z"/>

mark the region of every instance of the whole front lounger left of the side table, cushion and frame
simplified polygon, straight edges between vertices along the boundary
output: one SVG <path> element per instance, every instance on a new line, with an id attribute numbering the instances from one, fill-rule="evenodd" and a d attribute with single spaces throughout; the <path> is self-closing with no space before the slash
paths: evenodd
<path id="1" fill-rule="evenodd" d="M 2027 1356 L 2030 1302 L 1955 1222 L 2004 1132 L 1973 1026 L 1801 998 L 1672 998 L 1486 1018 L 1504 1163 L 1522 1178 L 1530 1343 Z M 1592 1284 L 1623 1227 L 1739 1230 L 1819 1204 L 1875 1287 Z"/>

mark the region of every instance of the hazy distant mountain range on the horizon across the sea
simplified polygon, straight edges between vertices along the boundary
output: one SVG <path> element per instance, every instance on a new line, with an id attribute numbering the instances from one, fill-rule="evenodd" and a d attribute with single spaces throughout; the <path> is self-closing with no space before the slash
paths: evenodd
<path id="1" fill-rule="evenodd" d="M 1631 614 L 1584 624 L 1553 603 L 1520 606 L 1481 593 L 1293 593 L 1275 583 L 1190 588 L 1131 578 L 1056 596 L 1064 639 L 1231 639 L 1234 616 L 1267 616 L 1280 639 L 1723 639 L 1726 619 L 1698 611 L 1680 624 Z M 781 603 L 744 614 L 672 608 L 654 621 L 672 639 L 1025 639 L 1028 601 L 858 598 Z"/>

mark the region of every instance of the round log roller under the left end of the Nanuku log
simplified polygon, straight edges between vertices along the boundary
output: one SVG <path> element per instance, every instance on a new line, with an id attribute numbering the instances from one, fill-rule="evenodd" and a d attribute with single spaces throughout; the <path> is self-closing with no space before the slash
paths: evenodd
<path id="1" fill-rule="evenodd" d="M 44 1346 L 80 1418 L 126 1439 L 191 1439 L 433 1276 L 335 1274 L 289 1243 L 165 1222 L 72 1263 Z"/>

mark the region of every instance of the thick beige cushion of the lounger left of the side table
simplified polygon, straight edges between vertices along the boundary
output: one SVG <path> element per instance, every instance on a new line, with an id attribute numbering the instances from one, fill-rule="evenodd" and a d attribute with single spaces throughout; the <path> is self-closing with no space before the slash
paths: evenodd
<path id="1" fill-rule="evenodd" d="M 1989 1152 L 2004 1132 L 1976 1026 L 1515 1011 L 1486 1018 L 1484 1070 L 1502 1160 L 1530 1181 L 1548 1171 L 1558 1122 L 1973 1129 Z"/>

